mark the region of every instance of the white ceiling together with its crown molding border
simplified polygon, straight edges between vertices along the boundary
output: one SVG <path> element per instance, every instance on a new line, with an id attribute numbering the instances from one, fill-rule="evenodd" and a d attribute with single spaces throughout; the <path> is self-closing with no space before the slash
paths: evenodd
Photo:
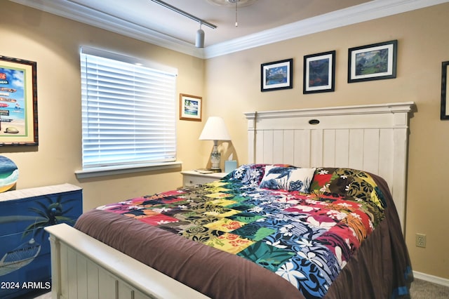
<path id="1" fill-rule="evenodd" d="M 11 1 L 210 58 L 449 0 L 240 0 L 237 10 L 232 2 L 238 0 L 163 0 L 217 26 L 201 26 L 205 32 L 203 49 L 194 46 L 199 22 L 152 0 Z"/>

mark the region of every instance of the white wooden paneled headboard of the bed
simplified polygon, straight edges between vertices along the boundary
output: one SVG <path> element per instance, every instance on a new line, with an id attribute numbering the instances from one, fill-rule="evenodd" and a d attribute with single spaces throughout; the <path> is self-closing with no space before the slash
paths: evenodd
<path id="1" fill-rule="evenodd" d="M 347 167 L 380 175 L 406 224 L 408 119 L 414 102 L 245 113 L 248 163 Z"/>

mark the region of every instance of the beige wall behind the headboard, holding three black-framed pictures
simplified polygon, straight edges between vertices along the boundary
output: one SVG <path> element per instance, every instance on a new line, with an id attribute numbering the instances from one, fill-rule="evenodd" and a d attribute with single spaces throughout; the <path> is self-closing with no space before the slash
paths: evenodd
<path id="1" fill-rule="evenodd" d="M 240 163 L 243 112 L 414 101 L 410 121 L 406 241 L 413 270 L 449 279 L 449 121 L 440 121 L 441 62 L 449 60 L 449 4 L 290 39 L 206 62 L 208 114 L 225 117 Z M 397 78 L 347 84 L 348 48 L 398 39 Z M 302 94 L 304 55 L 336 50 L 335 92 Z M 293 89 L 260 92 L 260 64 L 293 58 Z M 415 247 L 415 233 L 427 248 Z"/>

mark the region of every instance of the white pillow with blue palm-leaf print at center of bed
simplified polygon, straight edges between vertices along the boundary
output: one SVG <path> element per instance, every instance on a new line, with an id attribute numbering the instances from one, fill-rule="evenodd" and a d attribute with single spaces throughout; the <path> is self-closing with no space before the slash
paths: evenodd
<path id="1" fill-rule="evenodd" d="M 314 173 L 315 168 L 267 165 L 265 166 L 265 174 L 260 182 L 260 187 L 309 193 Z"/>

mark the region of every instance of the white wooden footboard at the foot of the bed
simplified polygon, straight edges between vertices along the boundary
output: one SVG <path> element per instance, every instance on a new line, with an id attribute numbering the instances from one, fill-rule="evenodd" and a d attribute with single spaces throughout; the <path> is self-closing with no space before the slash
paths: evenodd
<path id="1" fill-rule="evenodd" d="M 46 231 L 54 299 L 207 298 L 69 225 L 53 225 Z"/>

